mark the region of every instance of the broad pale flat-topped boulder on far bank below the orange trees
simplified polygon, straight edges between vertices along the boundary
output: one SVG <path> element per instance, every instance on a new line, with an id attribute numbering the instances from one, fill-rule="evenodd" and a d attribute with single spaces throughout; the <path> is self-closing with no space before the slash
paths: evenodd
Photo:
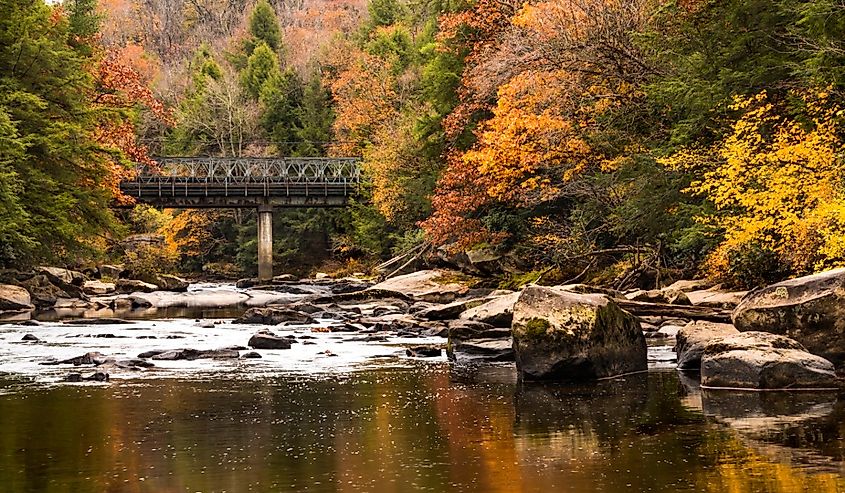
<path id="1" fill-rule="evenodd" d="M 423 270 L 382 281 L 370 290 L 396 292 L 404 297 L 431 303 L 451 303 L 469 290 L 462 282 L 466 276 L 447 270 Z"/>

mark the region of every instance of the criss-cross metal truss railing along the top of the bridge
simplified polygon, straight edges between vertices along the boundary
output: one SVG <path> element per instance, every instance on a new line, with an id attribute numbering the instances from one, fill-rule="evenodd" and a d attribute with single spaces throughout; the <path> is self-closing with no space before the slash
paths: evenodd
<path id="1" fill-rule="evenodd" d="M 139 165 L 128 183 L 154 184 L 163 179 L 209 184 L 349 184 L 361 182 L 358 158 L 328 157 L 169 157 L 156 166 Z"/>

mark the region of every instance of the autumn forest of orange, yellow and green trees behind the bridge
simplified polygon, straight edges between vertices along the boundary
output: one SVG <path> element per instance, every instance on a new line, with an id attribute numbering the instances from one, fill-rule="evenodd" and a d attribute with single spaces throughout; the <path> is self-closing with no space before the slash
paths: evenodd
<path id="1" fill-rule="evenodd" d="M 421 245 L 503 283 L 845 266 L 835 0 L 0 0 L 0 267 L 252 274 L 255 213 L 131 205 L 158 156 L 360 156 L 286 272 Z M 126 252 L 130 235 L 161 238 Z M 464 259 L 464 260 L 462 260 Z"/>

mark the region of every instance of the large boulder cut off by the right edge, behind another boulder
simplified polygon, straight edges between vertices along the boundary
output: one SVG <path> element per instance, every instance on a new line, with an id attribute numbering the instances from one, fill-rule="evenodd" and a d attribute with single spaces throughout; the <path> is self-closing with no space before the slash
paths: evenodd
<path id="1" fill-rule="evenodd" d="M 752 291 L 736 307 L 740 331 L 782 334 L 807 350 L 845 364 L 845 269 L 799 277 Z"/>

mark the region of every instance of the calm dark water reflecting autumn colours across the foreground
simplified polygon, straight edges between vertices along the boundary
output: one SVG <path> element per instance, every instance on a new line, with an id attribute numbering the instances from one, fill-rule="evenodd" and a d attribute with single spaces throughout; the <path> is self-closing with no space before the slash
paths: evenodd
<path id="1" fill-rule="evenodd" d="M 319 379 L 0 380 L 0 489 L 845 489 L 843 403 L 772 396 L 713 397 L 671 371 L 564 387 L 445 364 Z M 753 433 L 733 424 L 784 415 L 801 418 Z"/>

